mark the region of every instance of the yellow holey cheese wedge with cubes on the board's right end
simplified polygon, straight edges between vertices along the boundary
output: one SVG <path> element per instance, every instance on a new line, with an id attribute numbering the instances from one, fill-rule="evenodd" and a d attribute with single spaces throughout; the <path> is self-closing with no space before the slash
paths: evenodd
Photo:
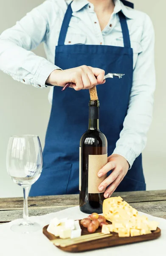
<path id="1" fill-rule="evenodd" d="M 157 221 L 149 221 L 146 215 L 138 215 L 121 197 L 107 198 L 103 202 L 103 215 L 107 221 L 112 222 L 111 231 L 104 227 L 104 232 L 116 232 L 119 236 L 146 235 L 158 227 Z M 107 225 L 108 226 L 108 225 Z"/>

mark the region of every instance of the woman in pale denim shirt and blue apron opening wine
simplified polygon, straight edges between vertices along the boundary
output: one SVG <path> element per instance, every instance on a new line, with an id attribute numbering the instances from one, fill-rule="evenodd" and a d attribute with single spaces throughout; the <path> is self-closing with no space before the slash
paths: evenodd
<path id="1" fill-rule="evenodd" d="M 79 140 L 87 130 L 88 90 L 96 84 L 108 140 L 104 197 L 145 190 L 141 152 L 152 119 L 154 31 L 125 0 L 47 0 L 0 36 L 0 69 L 35 87 L 51 86 L 42 175 L 30 195 L 79 192 Z M 34 49 L 45 44 L 48 60 Z M 105 73 L 125 73 L 107 79 Z M 62 92 L 62 87 L 70 87 Z M 105 84 L 103 84 L 105 82 Z"/>

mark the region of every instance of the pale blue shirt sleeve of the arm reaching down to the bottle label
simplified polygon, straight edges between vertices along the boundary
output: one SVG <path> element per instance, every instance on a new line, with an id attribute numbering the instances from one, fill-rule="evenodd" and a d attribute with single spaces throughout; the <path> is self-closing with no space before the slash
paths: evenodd
<path id="1" fill-rule="evenodd" d="M 142 52 L 138 55 L 133 73 L 133 84 L 129 99 L 124 128 L 116 143 L 113 154 L 120 154 L 127 159 L 130 168 L 146 145 L 146 134 L 152 122 L 153 95 L 155 91 L 154 64 L 155 35 L 148 15 L 145 15 Z"/>

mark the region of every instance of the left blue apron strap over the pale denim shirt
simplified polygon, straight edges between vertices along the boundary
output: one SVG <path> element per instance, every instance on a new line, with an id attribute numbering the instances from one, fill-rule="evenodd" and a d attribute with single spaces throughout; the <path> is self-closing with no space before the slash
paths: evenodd
<path id="1" fill-rule="evenodd" d="M 65 38 L 68 32 L 68 26 L 71 20 L 71 16 L 72 16 L 72 9 L 71 9 L 71 3 L 68 5 L 68 9 L 65 13 L 65 17 L 63 19 L 62 22 L 62 27 L 61 27 L 61 31 L 59 34 L 59 40 L 58 40 L 58 45 L 64 45 L 65 44 Z"/>

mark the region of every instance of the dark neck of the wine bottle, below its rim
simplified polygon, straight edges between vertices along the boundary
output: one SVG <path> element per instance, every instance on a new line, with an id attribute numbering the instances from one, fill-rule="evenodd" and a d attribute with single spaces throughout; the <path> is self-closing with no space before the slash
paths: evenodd
<path id="1" fill-rule="evenodd" d="M 89 106 L 89 130 L 99 131 L 99 107 Z"/>

